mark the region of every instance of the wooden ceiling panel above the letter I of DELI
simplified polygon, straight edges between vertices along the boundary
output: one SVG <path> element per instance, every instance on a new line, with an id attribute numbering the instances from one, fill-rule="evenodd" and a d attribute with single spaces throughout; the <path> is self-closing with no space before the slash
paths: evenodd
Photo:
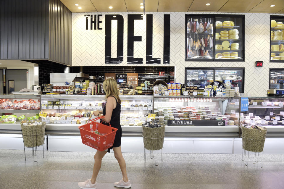
<path id="1" fill-rule="evenodd" d="M 193 0 L 159 0 L 158 12 L 187 12 L 192 1 Z"/>

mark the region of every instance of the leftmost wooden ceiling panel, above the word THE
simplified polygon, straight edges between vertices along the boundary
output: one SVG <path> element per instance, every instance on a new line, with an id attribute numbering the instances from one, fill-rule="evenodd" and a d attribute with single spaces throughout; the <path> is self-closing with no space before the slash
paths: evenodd
<path id="1" fill-rule="evenodd" d="M 96 8 L 93 6 L 90 0 L 60 0 L 70 11 L 72 12 L 96 12 Z M 75 4 L 79 4 L 76 6 Z M 82 7 L 82 9 L 78 9 Z"/>

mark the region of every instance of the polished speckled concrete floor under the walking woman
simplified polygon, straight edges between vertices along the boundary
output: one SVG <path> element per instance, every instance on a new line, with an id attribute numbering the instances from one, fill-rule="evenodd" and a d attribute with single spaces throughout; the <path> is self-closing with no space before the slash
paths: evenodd
<path id="1" fill-rule="evenodd" d="M 27 152 L 27 151 L 26 151 Z M 22 150 L 0 150 L 0 188 L 79 188 L 77 182 L 91 177 L 93 153 L 38 152 L 33 162 L 31 151 L 25 161 Z M 284 155 L 264 155 L 264 167 L 254 163 L 244 166 L 238 154 L 164 154 L 159 165 L 147 154 L 123 154 L 128 176 L 135 189 L 231 189 L 284 188 Z M 97 179 L 98 189 L 116 188 L 121 179 L 119 165 L 113 153 L 103 159 Z"/>

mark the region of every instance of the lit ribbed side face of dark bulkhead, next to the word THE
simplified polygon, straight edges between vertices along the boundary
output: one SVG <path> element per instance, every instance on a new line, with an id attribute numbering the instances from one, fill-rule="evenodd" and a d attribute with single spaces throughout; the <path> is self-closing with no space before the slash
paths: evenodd
<path id="1" fill-rule="evenodd" d="M 59 0 L 50 0 L 49 59 L 71 65 L 72 13 Z"/>

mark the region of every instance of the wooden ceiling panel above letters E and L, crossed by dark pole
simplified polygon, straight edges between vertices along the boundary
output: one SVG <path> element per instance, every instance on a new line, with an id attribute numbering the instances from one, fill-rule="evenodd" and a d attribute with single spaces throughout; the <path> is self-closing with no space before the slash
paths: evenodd
<path id="1" fill-rule="evenodd" d="M 140 10 L 140 3 L 143 3 L 143 0 L 125 0 L 126 7 L 128 12 L 129 10 Z M 156 10 L 158 9 L 159 0 L 145 0 L 145 10 Z M 141 9 L 143 11 L 143 9 Z"/>

